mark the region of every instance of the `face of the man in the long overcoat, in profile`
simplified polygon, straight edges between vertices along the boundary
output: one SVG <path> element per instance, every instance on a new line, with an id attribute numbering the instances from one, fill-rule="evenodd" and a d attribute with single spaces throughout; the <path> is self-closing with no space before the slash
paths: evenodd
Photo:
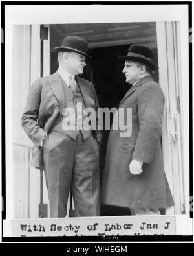
<path id="1" fill-rule="evenodd" d="M 126 82 L 129 84 L 134 84 L 138 79 L 140 79 L 141 65 L 131 60 L 125 61 L 125 67 L 123 73 L 125 74 Z"/>

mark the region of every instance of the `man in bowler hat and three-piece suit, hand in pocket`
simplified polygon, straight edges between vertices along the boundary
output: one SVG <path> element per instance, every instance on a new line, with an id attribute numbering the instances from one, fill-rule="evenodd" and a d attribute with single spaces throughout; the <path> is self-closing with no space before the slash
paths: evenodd
<path id="1" fill-rule="evenodd" d="M 32 165 L 45 170 L 52 218 L 66 216 L 70 189 L 76 216 L 100 215 L 101 134 L 98 116 L 92 127 L 86 111 L 97 111 L 98 99 L 93 84 L 78 76 L 90 58 L 87 50 L 83 38 L 63 39 L 55 48 L 58 71 L 34 82 L 21 119 L 34 143 Z M 83 108 L 79 115 L 78 105 Z"/>

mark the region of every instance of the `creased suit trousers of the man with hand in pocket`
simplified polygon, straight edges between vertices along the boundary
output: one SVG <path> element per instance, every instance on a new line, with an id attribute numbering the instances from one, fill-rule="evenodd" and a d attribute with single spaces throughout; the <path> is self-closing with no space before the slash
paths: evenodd
<path id="1" fill-rule="evenodd" d="M 50 217 L 65 217 L 72 189 L 76 216 L 100 216 L 99 146 L 92 135 L 76 140 L 52 131 L 43 146 Z"/>

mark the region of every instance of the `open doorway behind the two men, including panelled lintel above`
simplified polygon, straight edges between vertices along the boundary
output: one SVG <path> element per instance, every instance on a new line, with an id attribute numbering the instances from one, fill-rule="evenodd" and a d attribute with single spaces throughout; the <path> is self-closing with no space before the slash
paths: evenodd
<path id="1" fill-rule="evenodd" d="M 89 36 L 89 29 L 94 29 L 96 42 L 93 36 Z M 79 29 L 82 29 L 80 32 Z M 59 34 L 63 32 L 63 36 Z M 83 32 L 85 30 L 85 32 Z M 122 32 L 121 32 L 122 31 Z M 112 38 L 111 34 L 112 33 Z M 118 34 L 116 34 L 118 33 Z M 94 84 L 101 108 L 116 108 L 125 93 L 130 89 L 130 85 L 125 82 L 122 73 L 124 61 L 120 56 L 127 54 L 132 43 L 146 44 L 151 46 L 156 52 L 156 25 L 155 23 L 110 23 L 110 24 L 83 24 L 79 25 L 50 25 L 50 73 L 58 69 L 58 56 L 53 51 L 54 47 L 60 45 L 60 41 L 68 34 L 82 36 L 89 42 L 88 54 L 92 60 L 87 60 L 87 65 L 81 75 Z M 107 36 L 109 34 L 109 36 Z M 56 40 L 58 36 L 59 41 Z M 59 37 L 60 36 L 60 37 Z M 114 38 L 114 42 L 113 42 Z M 106 40 L 106 41 L 105 41 Z M 155 74 L 158 82 L 158 74 Z M 105 156 L 109 131 L 102 131 L 102 145 L 100 147 L 100 175 L 105 165 Z M 102 216 L 131 215 L 129 208 L 102 205 Z"/>

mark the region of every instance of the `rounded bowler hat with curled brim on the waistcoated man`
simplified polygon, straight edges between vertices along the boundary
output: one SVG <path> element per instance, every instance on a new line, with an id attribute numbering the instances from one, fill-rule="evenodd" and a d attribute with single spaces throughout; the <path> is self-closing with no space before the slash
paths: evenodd
<path id="1" fill-rule="evenodd" d="M 54 48 L 54 51 L 56 52 L 76 52 L 83 56 L 92 58 L 87 55 L 87 50 L 88 43 L 84 38 L 80 38 L 80 36 L 65 36 L 61 46 Z"/>

